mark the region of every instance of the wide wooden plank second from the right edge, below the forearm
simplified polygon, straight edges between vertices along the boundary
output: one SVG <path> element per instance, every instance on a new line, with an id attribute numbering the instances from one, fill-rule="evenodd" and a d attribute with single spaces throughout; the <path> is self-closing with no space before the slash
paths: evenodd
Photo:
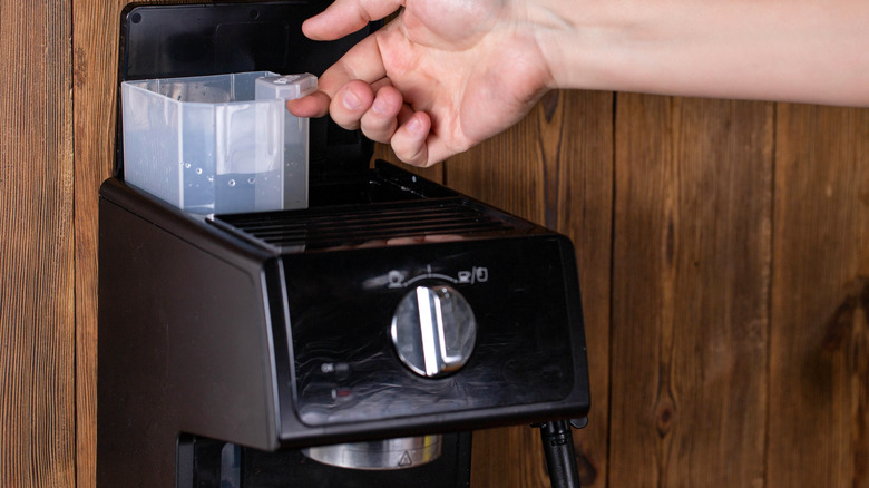
<path id="1" fill-rule="evenodd" d="M 611 486 L 763 484 L 772 119 L 618 95 Z"/>

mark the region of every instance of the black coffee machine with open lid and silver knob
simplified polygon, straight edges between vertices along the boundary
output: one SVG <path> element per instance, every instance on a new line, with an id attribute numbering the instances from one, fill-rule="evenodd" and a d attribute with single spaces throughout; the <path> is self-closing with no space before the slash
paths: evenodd
<path id="1" fill-rule="evenodd" d="M 119 78 L 319 75 L 377 28 L 310 41 L 323 8 L 128 8 Z M 370 167 L 371 143 L 328 119 L 310 147 L 309 208 L 207 217 L 126 185 L 119 147 L 99 206 L 98 487 L 467 487 L 470 432 L 518 423 L 540 427 L 554 486 L 578 486 L 570 242 Z"/>

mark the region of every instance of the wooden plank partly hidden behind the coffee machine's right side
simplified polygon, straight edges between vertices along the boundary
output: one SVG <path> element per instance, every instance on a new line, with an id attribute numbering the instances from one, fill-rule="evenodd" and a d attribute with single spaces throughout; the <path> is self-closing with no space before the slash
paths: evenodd
<path id="1" fill-rule="evenodd" d="M 574 432 L 584 487 L 606 484 L 613 94 L 554 91 L 519 125 L 450 159 L 448 186 L 574 241 L 592 380 L 589 427 Z M 478 432 L 475 487 L 547 487 L 539 433 Z"/>

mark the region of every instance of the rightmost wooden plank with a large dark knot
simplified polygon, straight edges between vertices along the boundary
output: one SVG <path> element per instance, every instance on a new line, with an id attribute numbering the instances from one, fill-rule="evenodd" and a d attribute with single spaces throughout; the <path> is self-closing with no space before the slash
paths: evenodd
<path id="1" fill-rule="evenodd" d="M 869 109 L 781 105 L 769 486 L 869 487 Z"/>

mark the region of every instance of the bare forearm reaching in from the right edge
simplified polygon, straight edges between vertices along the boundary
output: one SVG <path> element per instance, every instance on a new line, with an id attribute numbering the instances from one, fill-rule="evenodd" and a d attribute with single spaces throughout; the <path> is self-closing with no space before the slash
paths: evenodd
<path id="1" fill-rule="evenodd" d="M 559 88 L 869 105 L 865 0 L 530 0 Z"/>

